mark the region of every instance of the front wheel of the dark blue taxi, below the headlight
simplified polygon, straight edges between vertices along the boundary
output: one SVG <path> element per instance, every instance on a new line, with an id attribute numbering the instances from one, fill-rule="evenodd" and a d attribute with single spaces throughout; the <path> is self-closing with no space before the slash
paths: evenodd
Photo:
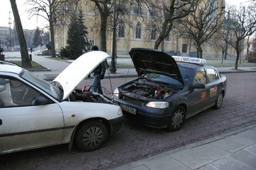
<path id="1" fill-rule="evenodd" d="M 182 106 L 178 106 L 172 113 L 170 123 L 167 124 L 167 129 L 171 132 L 180 130 L 185 122 L 186 110 Z"/>

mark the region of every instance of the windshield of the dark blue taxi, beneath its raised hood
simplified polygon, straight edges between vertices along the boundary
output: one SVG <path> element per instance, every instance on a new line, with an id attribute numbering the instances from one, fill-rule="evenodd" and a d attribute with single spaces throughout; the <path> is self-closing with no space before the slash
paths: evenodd
<path id="1" fill-rule="evenodd" d="M 155 83 L 163 83 L 163 84 L 168 84 L 172 85 L 178 88 L 182 88 L 183 85 L 178 81 L 175 80 L 174 78 L 164 76 L 162 74 L 155 74 L 155 73 L 147 73 L 142 76 L 142 78 L 146 78 L 147 80 L 150 80 Z"/>

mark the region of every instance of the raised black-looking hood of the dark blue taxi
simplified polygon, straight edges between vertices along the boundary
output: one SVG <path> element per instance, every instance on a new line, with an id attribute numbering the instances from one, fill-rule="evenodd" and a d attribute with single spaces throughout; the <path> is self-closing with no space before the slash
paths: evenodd
<path id="1" fill-rule="evenodd" d="M 184 85 L 178 65 L 172 56 L 150 48 L 132 48 L 129 54 L 139 77 L 146 73 L 163 74 Z"/>

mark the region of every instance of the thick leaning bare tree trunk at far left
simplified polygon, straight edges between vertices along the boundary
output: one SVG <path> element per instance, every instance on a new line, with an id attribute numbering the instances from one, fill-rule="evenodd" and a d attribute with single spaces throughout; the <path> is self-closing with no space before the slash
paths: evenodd
<path id="1" fill-rule="evenodd" d="M 22 24 L 20 21 L 20 15 L 18 12 L 18 8 L 16 5 L 16 0 L 10 0 L 11 6 L 12 6 L 12 12 L 14 16 L 15 26 L 18 34 L 18 39 L 20 42 L 20 54 L 21 54 L 21 66 L 22 67 L 31 67 L 31 63 L 28 56 L 28 48 L 26 44 L 26 40 L 23 33 Z"/>

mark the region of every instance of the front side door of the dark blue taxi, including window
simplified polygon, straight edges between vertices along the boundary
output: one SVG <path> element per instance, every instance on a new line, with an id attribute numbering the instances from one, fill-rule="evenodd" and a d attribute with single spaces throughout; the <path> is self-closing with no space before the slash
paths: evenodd
<path id="1" fill-rule="evenodd" d="M 201 83 L 206 84 L 206 72 L 205 69 L 200 69 L 196 72 L 192 85 Z M 198 89 L 195 88 L 191 90 L 191 99 L 190 99 L 190 114 L 202 110 L 206 106 L 207 96 L 206 88 Z"/>

